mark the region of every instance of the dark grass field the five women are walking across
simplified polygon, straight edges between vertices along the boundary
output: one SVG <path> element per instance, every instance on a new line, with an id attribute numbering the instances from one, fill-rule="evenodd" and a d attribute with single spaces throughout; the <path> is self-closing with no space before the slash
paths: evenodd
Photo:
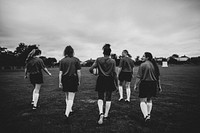
<path id="1" fill-rule="evenodd" d="M 96 76 L 82 68 L 82 82 L 75 97 L 72 124 L 64 123 L 64 93 L 58 88 L 58 69 L 44 74 L 36 112 L 31 111 L 32 85 L 23 71 L 0 72 L 0 132 L 3 133 L 191 133 L 200 123 L 200 67 L 160 68 L 163 92 L 153 101 L 151 123 L 142 124 L 138 92 L 131 103 L 118 102 L 113 93 L 110 119 L 97 125 Z M 135 69 L 134 74 L 136 74 Z M 133 79 L 131 87 L 133 90 Z"/>

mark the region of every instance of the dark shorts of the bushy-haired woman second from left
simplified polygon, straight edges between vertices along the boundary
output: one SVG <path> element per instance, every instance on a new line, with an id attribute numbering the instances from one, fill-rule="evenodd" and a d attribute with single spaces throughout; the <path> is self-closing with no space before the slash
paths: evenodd
<path id="1" fill-rule="evenodd" d="M 62 85 L 64 92 L 78 91 L 78 76 L 62 76 Z"/>

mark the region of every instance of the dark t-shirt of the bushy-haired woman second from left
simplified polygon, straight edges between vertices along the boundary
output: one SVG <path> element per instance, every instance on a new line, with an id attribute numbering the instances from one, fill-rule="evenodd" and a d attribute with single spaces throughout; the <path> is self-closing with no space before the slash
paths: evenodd
<path id="1" fill-rule="evenodd" d="M 77 75 L 77 70 L 81 69 L 80 60 L 67 56 L 60 61 L 59 69 L 63 72 L 63 76 Z"/>

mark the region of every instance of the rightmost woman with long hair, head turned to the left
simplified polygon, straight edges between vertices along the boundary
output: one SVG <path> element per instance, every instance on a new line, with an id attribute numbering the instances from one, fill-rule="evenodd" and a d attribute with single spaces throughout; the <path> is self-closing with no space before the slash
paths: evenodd
<path id="1" fill-rule="evenodd" d="M 157 89 L 161 92 L 160 72 L 153 56 L 149 52 L 143 55 L 143 61 L 139 67 L 134 90 L 139 88 L 140 108 L 144 115 L 144 122 L 150 120 L 152 110 L 152 97 L 156 97 Z"/>

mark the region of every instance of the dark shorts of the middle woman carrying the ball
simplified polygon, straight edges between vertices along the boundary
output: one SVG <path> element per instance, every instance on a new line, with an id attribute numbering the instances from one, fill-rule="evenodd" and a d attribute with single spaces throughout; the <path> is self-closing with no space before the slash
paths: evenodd
<path id="1" fill-rule="evenodd" d="M 116 90 L 116 83 L 113 77 L 99 76 L 97 78 L 96 91 L 112 92 Z"/>

